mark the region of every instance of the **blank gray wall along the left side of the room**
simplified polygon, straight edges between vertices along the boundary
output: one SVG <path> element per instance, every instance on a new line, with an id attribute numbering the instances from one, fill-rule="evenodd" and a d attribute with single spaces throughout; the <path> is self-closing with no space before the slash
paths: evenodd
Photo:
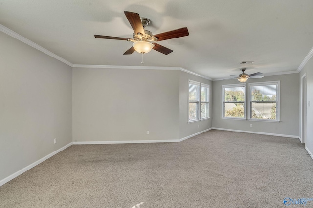
<path id="1" fill-rule="evenodd" d="M 72 68 L 2 32 L 0 45 L 2 180 L 72 142 Z"/>

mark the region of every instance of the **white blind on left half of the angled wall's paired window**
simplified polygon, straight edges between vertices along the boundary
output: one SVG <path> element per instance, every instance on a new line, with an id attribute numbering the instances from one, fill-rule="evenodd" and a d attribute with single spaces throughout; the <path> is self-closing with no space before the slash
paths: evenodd
<path id="1" fill-rule="evenodd" d="M 199 120 L 200 83 L 189 80 L 188 84 L 188 121 Z"/>

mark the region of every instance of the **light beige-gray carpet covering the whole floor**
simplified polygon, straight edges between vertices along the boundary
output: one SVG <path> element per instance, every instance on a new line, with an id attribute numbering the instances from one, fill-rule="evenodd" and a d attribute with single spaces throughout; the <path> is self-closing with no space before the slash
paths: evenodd
<path id="1" fill-rule="evenodd" d="M 211 130 L 179 143 L 72 145 L 0 187 L 0 207 L 274 208 L 313 198 L 312 184 L 298 139 Z"/>

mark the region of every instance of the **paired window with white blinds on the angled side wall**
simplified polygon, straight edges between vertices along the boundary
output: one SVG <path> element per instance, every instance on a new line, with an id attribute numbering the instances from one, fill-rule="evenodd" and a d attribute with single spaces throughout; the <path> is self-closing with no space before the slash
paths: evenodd
<path id="1" fill-rule="evenodd" d="M 209 85 L 188 81 L 188 122 L 209 118 Z"/>

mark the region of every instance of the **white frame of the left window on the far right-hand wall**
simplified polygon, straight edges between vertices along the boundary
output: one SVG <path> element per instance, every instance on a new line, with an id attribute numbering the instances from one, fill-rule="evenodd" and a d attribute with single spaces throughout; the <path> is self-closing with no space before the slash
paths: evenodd
<path id="1" fill-rule="evenodd" d="M 235 88 L 235 87 L 244 87 L 245 92 L 245 101 L 244 102 L 225 102 L 225 89 L 226 88 Z M 247 96 L 246 96 L 246 83 L 239 83 L 239 84 L 225 84 L 222 85 L 222 118 L 223 119 L 234 119 L 234 120 L 246 120 L 246 112 L 247 112 Z M 244 103 L 244 117 L 225 117 L 225 103 Z"/>

